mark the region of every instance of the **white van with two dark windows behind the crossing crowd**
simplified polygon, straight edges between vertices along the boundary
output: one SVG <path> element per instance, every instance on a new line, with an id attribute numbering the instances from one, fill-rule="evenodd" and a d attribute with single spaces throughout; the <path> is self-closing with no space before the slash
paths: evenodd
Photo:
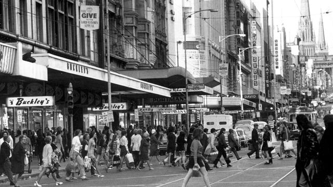
<path id="1" fill-rule="evenodd" d="M 228 114 L 203 115 L 203 128 L 207 128 L 208 133 L 212 128 L 216 130 L 225 128 L 227 131 L 233 128 L 233 116 Z"/>

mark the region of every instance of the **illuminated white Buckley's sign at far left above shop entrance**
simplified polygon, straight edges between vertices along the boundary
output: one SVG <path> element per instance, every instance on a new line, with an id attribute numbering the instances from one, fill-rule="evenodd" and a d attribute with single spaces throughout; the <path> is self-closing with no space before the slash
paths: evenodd
<path id="1" fill-rule="evenodd" d="M 7 98 L 7 107 L 54 106 L 54 96 Z"/>

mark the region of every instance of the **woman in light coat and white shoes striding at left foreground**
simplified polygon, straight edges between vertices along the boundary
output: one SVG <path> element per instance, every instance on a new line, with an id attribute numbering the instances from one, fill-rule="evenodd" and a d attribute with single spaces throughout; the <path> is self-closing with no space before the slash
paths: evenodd
<path id="1" fill-rule="evenodd" d="M 44 146 L 43 148 L 43 169 L 40 171 L 39 175 L 38 175 L 38 178 L 35 182 L 35 186 L 38 186 L 38 187 L 41 187 L 41 185 L 39 184 L 39 181 L 41 179 L 41 177 L 43 177 L 43 175 L 46 173 L 46 170 L 47 169 L 51 169 L 52 167 L 52 159 L 51 159 L 51 156 L 52 156 L 52 153 L 53 153 L 53 150 L 52 150 L 52 147 L 50 145 L 52 141 L 52 137 L 51 136 L 46 136 L 45 137 L 45 143 L 46 145 Z M 53 179 L 55 180 L 55 185 L 61 185 L 63 184 L 63 182 L 60 182 L 56 176 L 55 176 L 55 173 L 53 172 L 52 173 L 52 177 Z"/>

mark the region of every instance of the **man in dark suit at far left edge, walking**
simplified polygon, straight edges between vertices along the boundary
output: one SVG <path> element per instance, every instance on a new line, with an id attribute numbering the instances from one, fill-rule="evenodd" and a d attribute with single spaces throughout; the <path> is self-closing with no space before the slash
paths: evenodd
<path id="1" fill-rule="evenodd" d="M 5 173 L 11 184 L 14 184 L 15 187 L 19 187 L 17 181 L 13 178 L 13 173 L 11 171 L 11 162 L 10 158 L 12 157 L 9 142 L 10 139 L 7 135 L 4 135 L 4 143 L 1 145 L 0 150 L 0 173 Z"/>

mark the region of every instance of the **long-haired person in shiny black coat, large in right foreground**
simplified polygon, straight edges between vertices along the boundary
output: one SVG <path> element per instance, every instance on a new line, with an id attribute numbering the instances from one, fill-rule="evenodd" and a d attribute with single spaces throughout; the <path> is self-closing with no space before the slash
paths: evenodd
<path id="1" fill-rule="evenodd" d="M 317 158 L 319 151 L 317 135 L 306 115 L 297 115 L 296 121 L 300 130 L 300 136 L 297 141 L 296 185 L 297 187 L 313 186 L 316 181 L 308 177 L 304 168 L 309 165 L 311 159 Z"/>

